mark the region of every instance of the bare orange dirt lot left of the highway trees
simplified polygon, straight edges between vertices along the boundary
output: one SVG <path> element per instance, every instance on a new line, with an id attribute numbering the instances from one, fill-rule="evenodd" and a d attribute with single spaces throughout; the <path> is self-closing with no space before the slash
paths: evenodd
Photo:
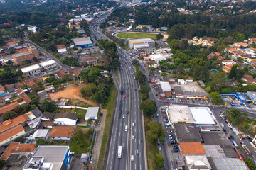
<path id="1" fill-rule="evenodd" d="M 82 97 L 82 94 L 80 93 L 80 87 L 74 86 L 73 84 L 68 85 L 65 89 L 62 91 L 55 92 L 53 94 L 49 94 L 49 98 L 53 101 L 57 101 L 58 98 L 70 98 L 70 99 L 78 99 L 81 100 L 87 104 L 90 104 L 91 106 L 99 106 L 97 103 L 89 101 Z"/>

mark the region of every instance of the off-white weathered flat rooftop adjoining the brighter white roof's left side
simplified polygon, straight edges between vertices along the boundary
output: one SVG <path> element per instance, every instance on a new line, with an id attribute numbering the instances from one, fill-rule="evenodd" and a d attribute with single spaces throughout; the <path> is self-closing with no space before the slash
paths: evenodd
<path id="1" fill-rule="evenodd" d="M 172 123 L 195 123 L 188 106 L 171 105 L 168 114 Z"/>

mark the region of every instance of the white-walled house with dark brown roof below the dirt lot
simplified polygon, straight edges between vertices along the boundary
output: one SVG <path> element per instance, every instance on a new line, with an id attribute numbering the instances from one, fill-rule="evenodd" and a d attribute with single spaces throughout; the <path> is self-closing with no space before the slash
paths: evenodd
<path id="1" fill-rule="evenodd" d="M 58 125 L 76 125 L 78 114 L 73 112 L 56 113 L 53 117 L 54 123 Z"/>

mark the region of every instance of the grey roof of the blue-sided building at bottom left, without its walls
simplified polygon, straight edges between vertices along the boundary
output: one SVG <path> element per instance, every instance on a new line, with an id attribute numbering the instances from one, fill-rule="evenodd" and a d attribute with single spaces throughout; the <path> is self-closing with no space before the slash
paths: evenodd
<path id="1" fill-rule="evenodd" d="M 28 158 L 28 161 L 23 166 L 23 169 L 33 167 L 33 162 L 35 161 L 41 161 L 43 162 L 41 166 L 52 166 L 51 170 L 60 170 L 69 150 L 70 148 L 68 146 L 38 146 L 33 154 L 33 157 Z"/>

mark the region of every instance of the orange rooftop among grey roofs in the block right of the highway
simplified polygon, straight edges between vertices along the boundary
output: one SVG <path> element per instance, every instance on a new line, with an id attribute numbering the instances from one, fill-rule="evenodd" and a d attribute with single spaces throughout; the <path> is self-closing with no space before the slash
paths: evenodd
<path id="1" fill-rule="evenodd" d="M 182 154 L 206 154 L 201 142 L 180 142 Z"/>

